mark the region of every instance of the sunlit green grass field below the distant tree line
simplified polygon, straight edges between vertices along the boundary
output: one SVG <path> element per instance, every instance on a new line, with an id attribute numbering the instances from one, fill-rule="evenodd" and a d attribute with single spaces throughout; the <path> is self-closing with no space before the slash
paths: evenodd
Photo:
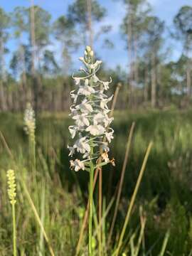
<path id="1" fill-rule="evenodd" d="M 124 237 L 122 253 L 145 256 L 192 255 L 192 111 L 115 112 L 110 157 L 114 157 L 116 166 L 107 166 L 102 170 L 104 210 L 119 182 L 132 122 L 135 122 L 134 137 L 111 247 L 115 247 L 122 229 L 146 148 L 153 141 Z M 12 253 L 11 206 L 6 191 L 8 169 L 16 171 L 18 255 L 49 255 L 50 246 L 55 255 L 75 255 L 87 204 L 88 174 L 86 171 L 75 173 L 70 170 L 67 149 L 69 124 L 68 114 L 44 113 L 38 117 L 34 178 L 22 114 L 0 114 L 0 255 Z M 48 242 L 43 238 L 42 228 L 38 225 L 23 184 L 26 184 L 36 206 Z M 95 210 L 97 206 L 96 186 Z M 113 210 L 114 205 L 103 225 L 102 235 L 105 240 L 110 230 Z M 144 236 L 138 254 L 131 254 L 133 246 L 137 247 L 141 211 L 146 217 Z M 97 217 L 94 223 L 97 227 Z M 160 254 L 169 231 L 165 252 Z M 105 255 L 112 255 L 111 247 Z M 87 255 L 86 250 L 87 231 L 82 240 L 80 255 Z"/>

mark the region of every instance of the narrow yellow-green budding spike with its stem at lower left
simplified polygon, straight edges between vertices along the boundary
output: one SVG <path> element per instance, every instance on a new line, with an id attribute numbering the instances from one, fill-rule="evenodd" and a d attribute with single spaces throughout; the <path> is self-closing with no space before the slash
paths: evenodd
<path id="1" fill-rule="evenodd" d="M 13 247 L 14 256 L 16 256 L 16 177 L 14 170 L 7 171 L 7 183 L 8 183 L 8 196 L 12 208 L 12 220 L 13 220 Z"/>

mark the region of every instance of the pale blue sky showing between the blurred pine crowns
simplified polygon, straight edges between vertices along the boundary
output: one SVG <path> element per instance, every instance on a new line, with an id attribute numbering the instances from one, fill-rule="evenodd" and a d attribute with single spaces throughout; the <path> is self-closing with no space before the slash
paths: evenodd
<path id="1" fill-rule="evenodd" d="M 107 16 L 104 20 L 105 24 L 111 24 L 113 26 L 112 31 L 109 34 L 110 40 L 114 43 L 114 49 L 108 50 L 101 47 L 101 43 L 95 43 L 95 48 L 99 53 L 100 57 L 107 64 L 108 67 L 114 68 L 117 65 L 121 65 L 122 68 L 126 68 L 128 59 L 127 52 L 124 49 L 125 43 L 122 39 L 122 36 L 119 32 L 119 25 L 122 22 L 124 17 L 124 5 L 121 0 L 98 0 L 102 6 L 107 9 Z M 73 4 L 73 0 L 34 0 L 35 4 L 43 7 L 50 12 L 53 17 L 53 20 L 60 15 L 66 14 L 69 4 Z M 166 21 L 166 25 L 171 26 L 173 17 L 176 15 L 178 9 L 183 5 L 191 5 L 191 0 L 149 0 L 149 4 L 152 7 L 152 14 L 159 16 L 159 18 Z M 30 6 L 29 0 L 0 0 L 0 6 L 5 11 L 13 11 L 16 6 Z M 9 42 L 9 48 L 14 49 L 14 41 Z M 172 53 L 169 56 L 169 59 L 176 60 L 179 55 L 181 55 L 181 45 L 175 41 L 169 41 L 169 46 L 171 46 Z M 58 46 L 55 45 L 55 50 Z M 81 49 L 82 51 L 82 49 Z M 75 53 L 73 62 L 78 63 L 75 59 L 81 55 L 80 51 Z M 10 55 L 7 56 L 7 62 L 10 58 Z"/>

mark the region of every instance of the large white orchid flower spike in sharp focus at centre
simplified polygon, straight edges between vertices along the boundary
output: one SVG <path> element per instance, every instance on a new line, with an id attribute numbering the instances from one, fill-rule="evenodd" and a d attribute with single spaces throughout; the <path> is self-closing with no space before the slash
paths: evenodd
<path id="1" fill-rule="evenodd" d="M 109 163 L 108 144 L 113 139 L 114 133 L 114 130 L 109 127 L 113 117 L 108 116 L 110 110 L 107 106 L 113 96 L 108 97 L 105 94 L 110 87 L 112 78 L 109 81 L 97 78 L 96 73 L 100 69 L 102 61 L 94 61 L 94 53 L 90 46 L 87 46 L 85 55 L 80 58 L 80 61 L 85 65 L 85 68 L 80 68 L 84 74 L 79 77 L 73 75 L 76 89 L 70 92 L 70 97 L 73 100 L 70 117 L 75 121 L 75 125 L 70 125 L 69 131 L 72 139 L 76 140 L 73 146 L 68 146 L 69 156 L 79 153 L 84 159 L 70 161 L 70 166 L 75 171 L 87 169 L 86 166 L 89 166 L 92 159 L 95 159 L 94 166 L 97 166 L 99 158 L 103 161 L 102 165 Z"/>

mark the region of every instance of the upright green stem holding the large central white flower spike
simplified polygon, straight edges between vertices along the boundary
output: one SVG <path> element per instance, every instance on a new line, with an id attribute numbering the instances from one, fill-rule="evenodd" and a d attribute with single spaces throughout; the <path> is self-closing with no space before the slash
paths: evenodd
<path id="1" fill-rule="evenodd" d="M 91 147 L 90 154 L 93 154 L 93 149 Z M 93 194 L 93 176 L 94 176 L 94 164 L 92 160 L 90 161 L 90 215 L 89 215 L 89 256 L 92 256 L 92 194 Z"/>

